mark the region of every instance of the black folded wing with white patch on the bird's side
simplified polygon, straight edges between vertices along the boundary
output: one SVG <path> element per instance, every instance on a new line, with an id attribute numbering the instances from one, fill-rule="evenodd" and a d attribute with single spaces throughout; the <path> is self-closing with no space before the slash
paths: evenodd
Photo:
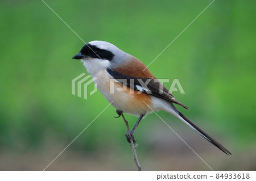
<path id="1" fill-rule="evenodd" d="M 108 69 L 108 73 L 116 79 L 120 84 L 126 85 L 130 87 L 131 89 L 142 91 L 145 94 L 150 94 L 152 96 L 168 100 L 172 103 L 178 104 L 187 110 L 189 108 L 185 106 L 184 104 L 180 103 L 178 100 L 172 96 L 172 94 L 166 89 L 166 87 L 163 86 L 163 84 L 158 81 L 158 79 L 152 79 L 152 78 L 136 78 L 133 76 L 125 75 L 122 73 L 119 73 L 118 71 Z M 133 83 L 134 81 L 134 83 Z M 145 85 L 145 83 L 147 83 Z"/>

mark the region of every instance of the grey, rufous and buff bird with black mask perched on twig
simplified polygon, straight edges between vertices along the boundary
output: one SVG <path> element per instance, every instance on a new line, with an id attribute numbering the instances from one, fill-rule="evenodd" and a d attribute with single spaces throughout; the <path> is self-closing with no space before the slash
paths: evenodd
<path id="1" fill-rule="evenodd" d="M 72 59 L 82 61 L 97 89 L 117 110 L 117 117 L 122 116 L 125 120 L 123 113 L 138 117 L 134 128 L 125 134 L 128 142 L 131 142 L 131 137 L 135 142 L 134 132 L 145 115 L 165 111 L 183 121 L 224 153 L 232 154 L 177 110 L 176 105 L 187 110 L 189 108 L 175 99 L 138 58 L 107 41 L 90 41 Z"/>

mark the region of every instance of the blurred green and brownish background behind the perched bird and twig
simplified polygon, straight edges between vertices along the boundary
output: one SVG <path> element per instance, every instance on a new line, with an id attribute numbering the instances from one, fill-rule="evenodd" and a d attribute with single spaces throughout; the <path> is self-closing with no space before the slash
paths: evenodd
<path id="1" fill-rule="evenodd" d="M 46 2 L 84 41 L 109 41 L 148 65 L 211 1 Z M 179 79 L 185 94 L 173 94 L 191 108 L 179 110 L 233 153 L 159 112 L 213 170 L 256 169 L 255 5 L 216 0 L 149 66 Z M 99 91 L 71 94 L 86 73 L 71 60 L 84 43 L 42 1 L 1 1 L 0 15 L 0 169 L 43 170 L 109 103 Z M 110 106 L 47 170 L 136 170 L 113 116 Z M 155 114 L 135 138 L 142 170 L 209 170 Z"/>

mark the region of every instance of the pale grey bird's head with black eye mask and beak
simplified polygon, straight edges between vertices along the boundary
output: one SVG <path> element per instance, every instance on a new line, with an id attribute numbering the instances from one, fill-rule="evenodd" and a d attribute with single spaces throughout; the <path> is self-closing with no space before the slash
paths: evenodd
<path id="1" fill-rule="evenodd" d="M 85 44 L 73 59 L 82 60 L 90 74 L 102 69 L 115 68 L 131 57 L 115 45 L 106 41 L 90 41 Z"/>

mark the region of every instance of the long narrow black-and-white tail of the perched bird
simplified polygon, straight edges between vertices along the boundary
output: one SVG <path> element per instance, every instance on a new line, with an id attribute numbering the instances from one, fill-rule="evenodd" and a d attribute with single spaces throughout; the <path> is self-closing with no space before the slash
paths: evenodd
<path id="1" fill-rule="evenodd" d="M 191 120 L 189 120 L 187 117 L 185 117 L 179 110 L 176 109 L 176 111 L 179 113 L 179 119 L 189 125 L 189 127 L 195 129 L 201 136 L 203 136 L 205 139 L 207 139 L 211 144 L 217 146 L 220 150 L 222 150 L 224 153 L 228 155 L 232 155 L 229 150 L 227 150 L 224 146 L 222 146 L 218 141 L 214 140 L 209 134 L 205 133 L 203 130 L 201 130 L 197 125 L 192 123 Z"/>

